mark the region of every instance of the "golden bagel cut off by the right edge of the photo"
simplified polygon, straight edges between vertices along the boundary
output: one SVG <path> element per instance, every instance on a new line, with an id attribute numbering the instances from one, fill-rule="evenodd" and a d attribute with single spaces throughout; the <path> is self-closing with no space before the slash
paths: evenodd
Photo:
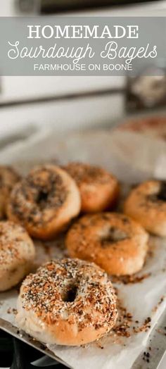
<path id="1" fill-rule="evenodd" d="M 125 201 L 124 211 L 146 230 L 166 236 L 166 183 L 150 180 L 139 184 Z"/>

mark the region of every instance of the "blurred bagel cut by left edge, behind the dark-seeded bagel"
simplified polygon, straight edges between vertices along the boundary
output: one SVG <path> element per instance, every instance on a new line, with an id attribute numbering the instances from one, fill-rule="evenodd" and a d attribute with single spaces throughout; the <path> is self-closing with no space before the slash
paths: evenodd
<path id="1" fill-rule="evenodd" d="M 20 175 L 9 166 L 0 165 L 0 219 L 6 215 L 8 197 L 14 184 L 20 180 Z"/>

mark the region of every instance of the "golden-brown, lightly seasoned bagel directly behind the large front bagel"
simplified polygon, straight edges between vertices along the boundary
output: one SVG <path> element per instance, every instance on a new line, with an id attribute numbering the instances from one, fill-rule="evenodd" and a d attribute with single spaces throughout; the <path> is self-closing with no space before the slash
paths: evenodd
<path id="1" fill-rule="evenodd" d="M 139 271 L 147 251 L 148 234 L 118 213 L 85 215 L 72 225 L 65 243 L 72 258 L 94 261 L 110 275 Z"/>

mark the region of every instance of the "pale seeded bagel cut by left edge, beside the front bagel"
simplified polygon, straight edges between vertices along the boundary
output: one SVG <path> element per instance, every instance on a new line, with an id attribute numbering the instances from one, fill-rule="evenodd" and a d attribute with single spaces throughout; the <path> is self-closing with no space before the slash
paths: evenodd
<path id="1" fill-rule="evenodd" d="M 0 291 L 14 287 L 30 272 L 34 244 L 23 227 L 0 222 Z"/>

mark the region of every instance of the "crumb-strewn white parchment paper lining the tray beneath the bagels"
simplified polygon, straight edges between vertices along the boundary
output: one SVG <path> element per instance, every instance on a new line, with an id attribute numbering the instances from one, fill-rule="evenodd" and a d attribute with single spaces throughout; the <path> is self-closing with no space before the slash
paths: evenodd
<path id="1" fill-rule="evenodd" d="M 131 135 L 127 136 L 126 132 L 120 132 L 118 135 L 117 132 L 101 131 L 82 134 L 77 132 L 68 135 L 67 138 L 56 137 L 53 132 L 44 130 L 28 140 L 27 144 L 20 142 L 18 146 L 9 146 L 1 152 L 0 161 L 15 163 L 23 173 L 30 169 L 32 163 L 38 161 L 46 162 L 50 159 L 60 163 L 71 160 L 87 161 L 113 170 L 120 180 L 128 183 L 139 182 L 146 177 L 156 175 L 160 157 L 165 157 L 165 145 L 161 147 L 157 139 L 146 137 L 145 141 L 144 137 L 142 140 L 141 137 L 135 137 L 135 134 Z M 20 156 L 22 161 L 18 163 Z M 142 160 L 143 165 L 141 165 Z M 166 178 L 165 168 L 162 169 L 163 177 Z M 62 244 L 61 242 L 62 240 L 58 240 L 58 246 L 56 242 L 44 244 L 44 246 L 39 242 L 37 248 L 39 250 L 40 247 L 40 251 L 42 249 L 43 252 L 38 253 L 41 260 L 38 259 L 37 263 L 54 254 L 55 256 L 63 254 L 63 242 Z M 120 330 L 122 325 L 129 325 L 126 327 L 125 337 L 122 337 L 120 330 L 116 329 L 98 342 L 84 347 L 48 346 L 70 367 L 75 369 L 131 368 L 166 306 L 166 239 L 151 237 L 149 249 L 146 264 L 139 273 L 140 279 L 142 277 L 141 282 L 130 280 L 129 284 L 125 284 L 127 281 L 115 283 L 121 304 L 120 316 L 125 315 L 124 308 L 127 309 L 126 315 L 130 316 L 127 322 L 125 318 L 117 322 L 117 325 L 121 326 Z M 143 278 L 143 276 L 146 277 Z M 17 296 L 16 290 L 0 294 L 0 316 L 13 324 L 15 324 L 14 309 Z"/>

